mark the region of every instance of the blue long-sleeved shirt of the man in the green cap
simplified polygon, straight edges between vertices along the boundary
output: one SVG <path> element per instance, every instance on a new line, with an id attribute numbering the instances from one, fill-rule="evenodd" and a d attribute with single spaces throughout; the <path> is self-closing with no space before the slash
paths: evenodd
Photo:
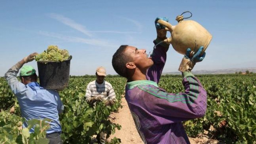
<path id="1" fill-rule="evenodd" d="M 64 106 L 59 93 L 55 90 L 46 90 L 37 82 L 24 85 L 16 77 L 18 72 L 19 67 L 16 64 L 5 73 L 4 77 L 19 101 L 21 116 L 26 120 L 49 118 L 52 120 L 51 127 L 46 133 L 61 132 L 59 114 Z M 23 127 L 27 126 L 25 122 Z M 34 128 L 29 132 L 34 132 Z"/>

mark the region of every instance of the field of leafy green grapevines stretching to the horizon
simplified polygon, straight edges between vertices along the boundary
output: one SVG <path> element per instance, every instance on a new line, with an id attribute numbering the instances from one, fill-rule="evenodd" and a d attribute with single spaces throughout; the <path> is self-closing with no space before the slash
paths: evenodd
<path id="1" fill-rule="evenodd" d="M 188 136 L 196 137 L 205 133 L 212 139 L 225 143 L 256 143 L 256 75 L 199 75 L 198 79 L 207 91 L 207 112 L 200 119 L 183 122 Z M 60 92 L 65 106 L 60 115 L 62 140 L 64 143 L 89 143 L 92 136 L 101 130 L 110 135 L 121 125 L 111 123 L 108 116 L 118 111 L 121 95 L 124 94 L 126 80 L 118 76 L 107 77 L 116 92 L 118 102 L 105 107 L 98 103 L 92 107 L 85 102 L 85 88 L 95 80 L 92 76 L 71 76 L 69 86 Z M 183 92 L 181 76 L 162 76 L 159 86 L 168 92 Z M 0 144 L 2 143 L 43 143 L 45 140 L 45 120 L 29 121 L 37 125 L 35 133 L 21 129 L 24 119 L 15 96 L 3 77 L 0 78 Z M 108 136 L 107 136 L 108 137 Z M 122 140 L 121 140 L 122 141 Z M 109 143 L 119 143 L 114 138 Z"/>

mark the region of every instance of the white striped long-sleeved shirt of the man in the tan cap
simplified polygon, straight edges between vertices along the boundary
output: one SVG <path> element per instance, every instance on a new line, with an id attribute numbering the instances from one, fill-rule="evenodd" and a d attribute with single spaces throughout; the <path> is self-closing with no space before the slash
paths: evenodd
<path id="1" fill-rule="evenodd" d="M 87 85 L 85 97 L 88 102 L 92 97 L 101 96 L 104 100 L 115 100 L 116 94 L 110 83 L 103 81 L 102 84 L 98 84 L 95 81 L 90 82 Z"/>

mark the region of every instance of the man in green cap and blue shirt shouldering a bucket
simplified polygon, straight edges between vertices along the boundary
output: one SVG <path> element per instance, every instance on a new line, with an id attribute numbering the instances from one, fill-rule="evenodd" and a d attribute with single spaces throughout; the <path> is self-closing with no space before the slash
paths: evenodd
<path id="1" fill-rule="evenodd" d="M 51 119 L 51 127 L 46 131 L 46 138 L 50 140 L 49 144 L 62 144 L 59 114 L 63 111 L 64 106 L 59 93 L 41 87 L 37 83 L 36 70 L 32 66 L 23 66 L 25 63 L 34 60 L 36 55 L 37 53 L 32 53 L 20 60 L 5 73 L 4 77 L 19 101 L 21 116 L 27 121 L 31 119 Z M 19 70 L 21 82 L 16 77 Z M 24 122 L 22 127 L 28 127 L 28 124 Z M 34 132 L 34 128 L 31 128 L 29 132 Z"/>

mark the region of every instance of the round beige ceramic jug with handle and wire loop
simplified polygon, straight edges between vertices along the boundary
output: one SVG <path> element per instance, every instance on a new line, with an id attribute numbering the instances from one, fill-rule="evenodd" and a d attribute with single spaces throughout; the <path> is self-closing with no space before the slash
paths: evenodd
<path id="1" fill-rule="evenodd" d="M 176 17 L 178 21 L 176 26 L 172 26 L 164 20 L 157 21 L 157 23 L 164 25 L 165 29 L 171 33 L 171 36 L 165 39 L 164 42 L 172 44 L 174 50 L 183 55 L 186 53 L 187 48 L 191 49 L 192 52 L 190 54 L 193 55 L 200 46 L 204 46 L 204 52 L 212 40 L 212 35 L 196 21 L 184 20 L 182 14 Z"/>

